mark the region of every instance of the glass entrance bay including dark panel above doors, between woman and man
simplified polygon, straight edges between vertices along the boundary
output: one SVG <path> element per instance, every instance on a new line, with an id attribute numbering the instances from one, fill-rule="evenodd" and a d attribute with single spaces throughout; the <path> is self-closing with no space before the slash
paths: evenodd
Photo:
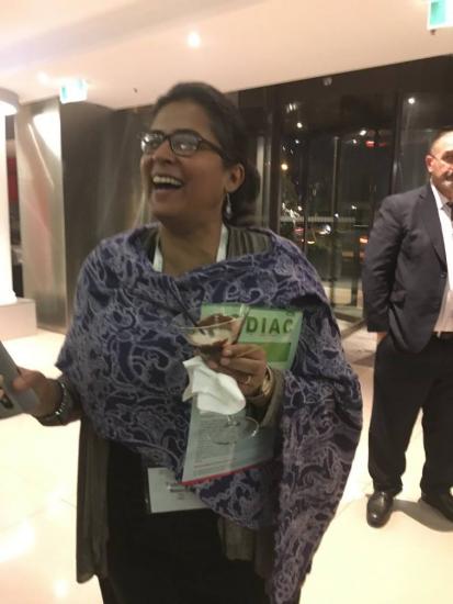
<path id="1" fill-rule="evenodd" d="M 281 108 L 280 233 L 316 267 L 339 317 L 362 316 L 363 250 L 392 177 L 395 96 L 329 93 Z"/>

